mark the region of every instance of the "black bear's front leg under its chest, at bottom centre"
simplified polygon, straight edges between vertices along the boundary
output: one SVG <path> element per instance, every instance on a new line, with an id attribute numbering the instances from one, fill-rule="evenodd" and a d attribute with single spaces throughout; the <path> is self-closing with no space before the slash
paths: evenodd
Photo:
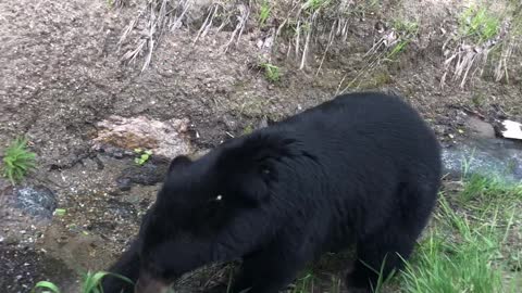
<path id="1" fill-rule="evenodd" d="M 290 250 L 253 253 L 244 258 L 232 292 L 277 293 L 296 278 L 304 264 L 306 258 Z"/>

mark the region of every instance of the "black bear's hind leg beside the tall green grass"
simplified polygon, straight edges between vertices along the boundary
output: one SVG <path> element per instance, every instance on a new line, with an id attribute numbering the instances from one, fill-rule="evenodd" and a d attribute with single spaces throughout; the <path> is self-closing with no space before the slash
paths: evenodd
<path id="1" fill-rule="evenodd" d="M 402 258 L 410 256 L 415 238 L 417 234 L 386 227 L 358 241 L 357 260 L 347 276 L 347 286 L 355 292 L 371 292 L 377 284 L 378 272 L 382 271 L 385 280 L 394 269 L 402 268 Z"/>

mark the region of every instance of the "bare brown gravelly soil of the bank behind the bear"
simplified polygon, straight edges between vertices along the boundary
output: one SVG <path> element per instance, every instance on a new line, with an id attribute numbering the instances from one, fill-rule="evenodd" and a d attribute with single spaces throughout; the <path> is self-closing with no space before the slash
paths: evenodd
<path id="1" fill-rule="evenodd" d="M 464 89 L 458 85 L 440 88 L 444 38 L 436 31 L 455 16 L 455 3 L 402 2 L 411 13 L 428 20 L 425 27 L 435 33 L 425 31 L 398 61 L 381 64 L 373 78 L 348 90 L 402 94 L 444 144 L 465 139 L 469 114 L 488 123 L 522 120 L 520 71 L 511 74 L 509 85 L 484 76 Z M 426 9 L 430 4 L 437 9 Z M 231 31 L 210 34 L 192 44 L 195 29 L 184 28 L 164 35 L 145 72 L 140 72 L 142 56 L 122 63 L 136 38 L 129 37 L 122 47 L 117 41 L 140 8 L 132 2 L 114 10 L 104 0 L 0 2 L 0 145 L 26 135 L 39 166 L 27 183 L 48 186 L 57 193 L 59 206 L 66 209 L 50 226 L 38 228 L 34 233 L 41 237 L 33 243 L 21 244 L 20 239 L 28 235 L 0 241 L 0 288 L 4 292 L 28 292 L 41 279 L 75 292 L 75 270 L 105 268 L 135 234 L 159 182 L 121 187 L 122 176 L 136 168 L 134 157 L 92 148 L 99 122 L 111 115 L 188 119 L 194 152 L 212 148 L 263 120 L 270 123 L 331 99 L 339 85 L 346 85 L 344 79 L 352 79 L 363 67 L 362 56 L 376 38 L 375 24 L 387 17 L 381 13 L 355 20 L 349 41 L 328 51 L 319 74 L 322 51 L 312 51 L 310 64 L 299 71 L 282 44 L 272 61 L 281 67 L 282 78 L 271 84 L 256 66 L 263 54 L 258 42 L 266 33 L 253 25 L 225 54 L 220 46 L 228 41 Z M 139 27 L 133 34 L 139 37 Z M 158 178 L 162 166 L 164 162 L 151 162 L 150 176 Z M 0 224 L 0 233 L 1 228 Z"/>

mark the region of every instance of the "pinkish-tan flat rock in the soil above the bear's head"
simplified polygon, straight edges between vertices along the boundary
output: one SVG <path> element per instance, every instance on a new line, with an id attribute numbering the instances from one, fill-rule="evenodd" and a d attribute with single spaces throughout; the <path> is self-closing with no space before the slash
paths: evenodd
<path id="1" fill-rule="evenodd" d="M 145 116 L 111 116 L 98 123 L 98 127 L 101 129 L 94 139 L 98 150 L 109 144 L 125 150 L 147 149 L 166 157 L 190 152 L 188 119 L 160 122 Z"/>

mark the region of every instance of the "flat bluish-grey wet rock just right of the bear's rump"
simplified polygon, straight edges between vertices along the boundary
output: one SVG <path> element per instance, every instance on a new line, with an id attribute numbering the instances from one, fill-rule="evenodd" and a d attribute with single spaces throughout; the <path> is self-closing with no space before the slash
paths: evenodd
<path id="1" fill-rule="evenodd" d="M 445 173 L 497 176 L 506 181 L 522 180 L 522 144 L 505 139 L 474 139 L 443 150 Z"/>

